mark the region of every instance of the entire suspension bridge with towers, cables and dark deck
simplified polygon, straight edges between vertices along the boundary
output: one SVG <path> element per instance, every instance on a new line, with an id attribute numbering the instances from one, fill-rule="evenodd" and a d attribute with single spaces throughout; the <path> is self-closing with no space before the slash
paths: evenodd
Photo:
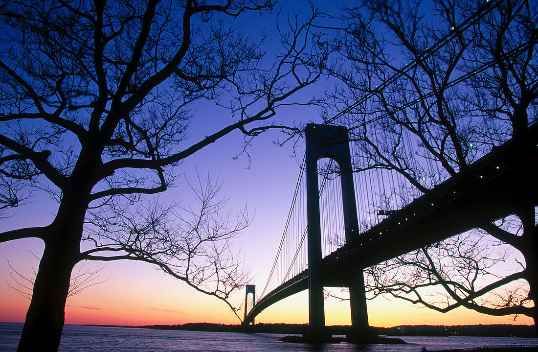
<path id="1" fill-rule="evenodd" d="M 523 198 L 536 203 L 536 132 L 533 126 L 526 144 L 508 140 L 419 194 L 390 170 L 353 173 L 357 150 L 354 144 L 350 149 L 348 130 L 308 124 L 305 158 L 270 277 L 259 296 L 254 285 L 246 288 L 245 327 L 275 302 L 308 290 L 305 337 L 327 340 L 323 287 L 348 287 L 348 339 L 371 339 L 363 269 L 512 214 Z"/>

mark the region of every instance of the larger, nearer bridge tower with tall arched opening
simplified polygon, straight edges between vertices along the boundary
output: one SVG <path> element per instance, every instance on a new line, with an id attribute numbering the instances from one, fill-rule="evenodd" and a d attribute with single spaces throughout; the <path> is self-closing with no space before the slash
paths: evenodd
<path id="1" fill-rule="evenodd" d="M 306 130 L 306 185 L 308 219 L 308 320 L 309 328 L 305 337 L 309 340 L 327 340 L 331 335 L 325 328 L 323 283 L 320 267 L 321 224 L 317 161 L 330 158 L 340 168 L 342 201 L 344 210 L 345 240 L 349 242 L 358 236 L 357 208 L 348 130 L 344 126 L 307 124 Z M 363 271 L 352 272 L 346 285 L 349 287 L 351 306 L 351 333 L 348 340 L 370 338 Z"/>

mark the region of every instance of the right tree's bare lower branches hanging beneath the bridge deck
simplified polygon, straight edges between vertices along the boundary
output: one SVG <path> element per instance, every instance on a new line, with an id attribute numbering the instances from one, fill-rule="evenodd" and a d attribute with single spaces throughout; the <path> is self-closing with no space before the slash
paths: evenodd
<path id="1" fill-rule="evenodd" d="M 501 316 L 532 316 L 525 266 L 502 270 L 509 246 L 475 230 L 365 270 L 370 297 L 388 294 L 445 313 L 465 307 Z M 509 265 L 513 267 L 514 265 Z"/>

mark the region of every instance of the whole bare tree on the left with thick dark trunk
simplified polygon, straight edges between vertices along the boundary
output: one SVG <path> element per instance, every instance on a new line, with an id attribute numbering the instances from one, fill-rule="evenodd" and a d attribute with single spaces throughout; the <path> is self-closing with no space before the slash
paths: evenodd
<path id="1" fill-rule="evenodd" d="M 0 234 L 0 242 L 45 243 L 19 351 L 58 348 L 69 279 L 83 259 L 152 263 L 223 300 L 240 285 L 227 243 L 247 218 L 221 214 L 214 186 L 198 189 L 200 208 L 183 209 L 180 228 L 172 227 L 172 206 L 129 206 L 165 191 L 183 159 L 233 131 L 249 139 L 287 129 L 271 118 L 318 79 L 327 53 L 312 45 L 313 11 L 304 24 L 288 19 L 281 53 L 266 57 L 264 38 L 238 21 L 274 5 L 3 2 L 0 209 L 20 205 L 32 189 L 59 202 L 47 226 Z M 228 108 L 228 122 L 189 142 L 196 102 Z M 81 253 L 81 240 L 95 248 Z"/>

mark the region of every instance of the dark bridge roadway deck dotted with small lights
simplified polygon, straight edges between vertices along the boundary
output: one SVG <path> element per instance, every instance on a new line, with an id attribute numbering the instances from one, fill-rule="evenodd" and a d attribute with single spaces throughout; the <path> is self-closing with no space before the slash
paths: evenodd
<path id="1" fill-rule="evenodd" d="M 502 149 L 480 158 L 468 171 L 442 182 L 433 192 L 415 199 L 323 258 L 323 285 L 348 287 L 350 278 L 365 267 L 513 214 L 522 200 L 538 204 L 536 141 L 531 145 L 524 156 L 514 152 L 520 145 L 506 143 L 498 147 Z M 261 298 L 247 321 L 275 302 L 307 288 L 308 270 Z"/>

